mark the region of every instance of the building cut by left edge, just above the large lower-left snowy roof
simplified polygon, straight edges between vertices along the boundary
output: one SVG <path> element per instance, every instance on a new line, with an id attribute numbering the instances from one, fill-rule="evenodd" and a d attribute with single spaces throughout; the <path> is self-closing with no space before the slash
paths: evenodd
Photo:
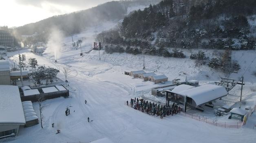
<path id="1" fill-rule="evenodd" d="M 11 85 L 10 68 L 7 60 L 0 60 L 0 85 Z"/>

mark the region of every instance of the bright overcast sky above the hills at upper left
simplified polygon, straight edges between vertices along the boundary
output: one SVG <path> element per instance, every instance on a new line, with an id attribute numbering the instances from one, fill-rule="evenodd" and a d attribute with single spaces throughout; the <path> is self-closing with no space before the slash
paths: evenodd
<path id="1" fill-rule="evenodd" d="M 53 15 L 89 9 L 112 0 L 1 0 L 0 26 L 23 26 Z"/>

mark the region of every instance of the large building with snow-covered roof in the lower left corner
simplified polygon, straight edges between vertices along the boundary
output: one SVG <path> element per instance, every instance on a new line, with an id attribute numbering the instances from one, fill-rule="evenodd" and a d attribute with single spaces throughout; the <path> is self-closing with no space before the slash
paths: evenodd
<path id="1" fill-rule="evenodd" d="M 25 125 L 24 111 L 18 86 L 0 85 L 0 142 L 16 137 Z"/>

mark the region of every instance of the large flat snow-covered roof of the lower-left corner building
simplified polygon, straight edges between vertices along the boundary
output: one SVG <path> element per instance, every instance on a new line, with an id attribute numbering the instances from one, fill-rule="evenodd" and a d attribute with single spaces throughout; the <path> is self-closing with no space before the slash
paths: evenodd
<path id="1" fill-rule="evenodd" d="M 0 123 L 25 124 L 18 86 L 0 85 Z"/>

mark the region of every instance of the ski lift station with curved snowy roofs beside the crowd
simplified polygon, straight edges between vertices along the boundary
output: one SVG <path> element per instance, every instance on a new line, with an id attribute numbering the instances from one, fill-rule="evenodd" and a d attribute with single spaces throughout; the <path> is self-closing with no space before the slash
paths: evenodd
<path id="1" fill-rule="evenodd" d="M 227 91 L 223 86 L 207 84 L 199 87 L 190 85 L 179 85 L 172 91 L 166 91 L 166 105 L 170 101 L 183 105 L 183 111 L 187 108 L 199 109 L 203 111 L 203 105 L 227 96 Z"/>

